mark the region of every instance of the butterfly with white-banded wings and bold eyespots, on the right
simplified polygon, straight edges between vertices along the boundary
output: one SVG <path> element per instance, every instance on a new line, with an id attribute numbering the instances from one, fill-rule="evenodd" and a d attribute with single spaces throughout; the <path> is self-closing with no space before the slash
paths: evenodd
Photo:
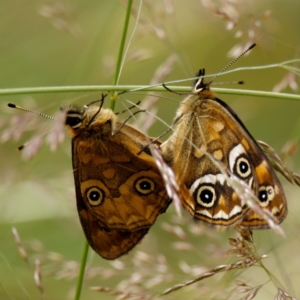
<path id="1" fill-rule="evenodd" d="M 226 180 L 226 174 L 234 175 L 253 190 L 275 223 L 281 223 L 287 203 L 278 178 L 239 117 L 204 82 L 204 75 L 200 70 L 192 94 L 177 111 L 173 135 L 161 145 L 178 181 L 182 205 L 196 220 L 219 228 L 268 228 L 267 220 L 250 210 Z"/>

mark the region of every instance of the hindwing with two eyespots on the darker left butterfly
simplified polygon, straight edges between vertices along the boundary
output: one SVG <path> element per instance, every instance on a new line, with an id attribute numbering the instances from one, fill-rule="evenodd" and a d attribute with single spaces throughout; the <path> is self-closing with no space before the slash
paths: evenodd
<path id="1" fill-rule="evenodd" d="M 115 135 L 104 134 L 110 132 L 104 127 L 93 132 L 92 142 L 88 134 L 73 138 L 77 201 L 109 230 L 149 228 L 170 200 L 154 158 L 141 152 L 146 138 L 126 125 Z"/>

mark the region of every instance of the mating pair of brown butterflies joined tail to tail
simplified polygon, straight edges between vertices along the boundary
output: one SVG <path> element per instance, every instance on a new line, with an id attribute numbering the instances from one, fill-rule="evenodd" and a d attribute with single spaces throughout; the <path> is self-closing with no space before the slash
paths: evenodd
<path id="1" fill-rule="evenodd" d="M 163 144 L 154 142 L 174 170 L 182 206 L 211 226 L 268 228 L 267 219 L 232 187 L 233 178 L 281 223 L 287 203 L 266 156 L 233 110 L 204 83 L 204 70 L 199 75 L 177 111 L 173 135 Z M 117 122 L 109 109 L 71 107 L 66 115 L 82 227 L 99 255 L 115 259 L 142 239 L 170 203 L 147 150 L 151 139 Z"/>

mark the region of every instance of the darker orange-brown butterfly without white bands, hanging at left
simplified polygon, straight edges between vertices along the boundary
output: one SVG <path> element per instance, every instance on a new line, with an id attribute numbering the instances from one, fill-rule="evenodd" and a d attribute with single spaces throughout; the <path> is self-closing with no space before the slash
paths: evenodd
<path id="1" fill-rule="evenodd" d="M 65 111 L 83 230 L 99 255 L 115 259 L 167 209 L 164 181 L 145 150 L 149 138 L 118 122 L 110 109 L 71 106 Z"/>

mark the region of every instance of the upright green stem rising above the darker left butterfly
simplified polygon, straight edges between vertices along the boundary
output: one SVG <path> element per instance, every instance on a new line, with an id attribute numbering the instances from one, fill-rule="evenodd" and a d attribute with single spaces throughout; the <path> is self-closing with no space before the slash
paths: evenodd
<path id="1" fill-rule="evenodd" d="M 126 41 L 126 36 L 128 32 L 128 25 L 129 25 L 129 20 L 130 20 L 130 14 L 131 14 L 131 6 L 132 6 L 132 0 L 128 0 L 127 2 L 127 10 L 126 10 L 126 15 L 125 15 L 125 21 L 124 21 L 124 27 L 123 27 L 123 33 L 121 37 L 121 43 L 119 47 L 119 54 L 118 54 L 118 59 L 117 59 L 117 64 L 116 64 L 116 69 L 115 69 L 115 76 L 113 80 L 113 85 L 117 85 L 119 81 L 119 76 L 120 76 L 120 70 L 121 70 L 121 63 L 122 63 L 122 58 L 123 58 L 123 52 L 124 52 L 124 47 L 125 47 L 125 41 Z M 111 97 L 110 101 L 110 108 L 114 110 L 115 108 L 115 103 L 116 103 L 116 97 Z"/>

